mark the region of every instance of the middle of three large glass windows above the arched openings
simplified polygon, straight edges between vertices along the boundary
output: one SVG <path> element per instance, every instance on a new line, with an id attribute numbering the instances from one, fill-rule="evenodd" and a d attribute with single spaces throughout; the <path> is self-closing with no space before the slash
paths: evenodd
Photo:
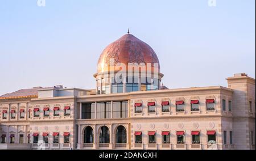
<path id="1" fill-rule="evenodd" d="M 110 118 L 110 102 L 105 102 L 105 103 L 97 103 L 96 107 L 96 115 L 97 118 Z"/>

